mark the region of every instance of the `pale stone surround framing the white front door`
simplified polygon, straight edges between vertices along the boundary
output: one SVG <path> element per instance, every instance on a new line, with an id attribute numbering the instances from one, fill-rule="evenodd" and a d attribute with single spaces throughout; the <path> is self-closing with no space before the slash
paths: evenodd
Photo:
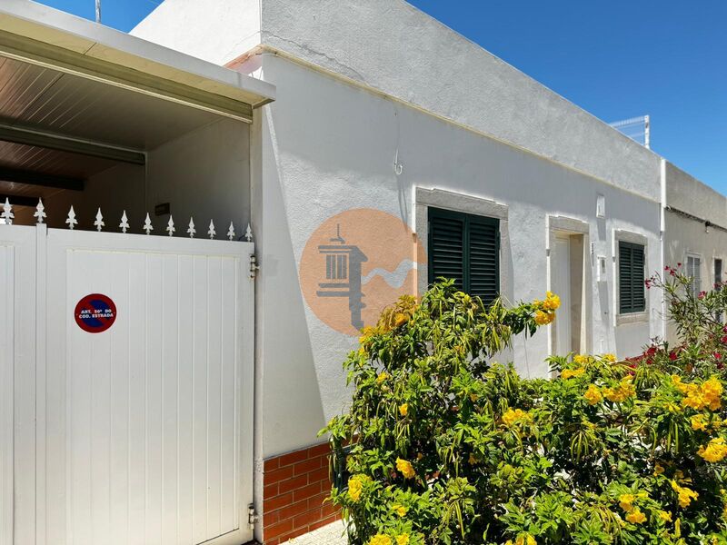
<path id="1" fill-rule="evenodd" d="M 583 236 L 583 278 L 581 290 L 581 351 L 590 353 L 593 350 L 593 252 L 591 251 L 591 228 L 589 223 L 575 218 L 548 215 L 547 216 L 547 276 L 548 290 L 553 291 L 553 253 L 555 239 L 558 236 Z M 573 260 L 573 255 L 571 256 Z M 573 277 L 571 278 L 573 282 Z M 573 295 L 573 294 L 572 294 Z M 572 316 L 573 320 L 573 316 Z M 573 332 L 572 332 L 573 334 Z M 548 326 L 548 347 L 552 355 L 557 350 L 557 339 L 553 324 Z"/>

